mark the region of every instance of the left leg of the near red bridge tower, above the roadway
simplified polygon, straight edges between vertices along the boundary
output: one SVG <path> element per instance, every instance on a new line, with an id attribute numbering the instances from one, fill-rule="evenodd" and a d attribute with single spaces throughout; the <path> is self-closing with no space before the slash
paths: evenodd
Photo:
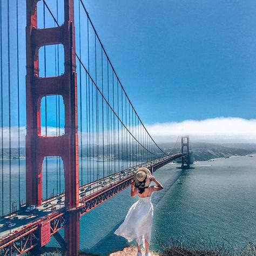
<path id="1" fill-rule="evenodd" d="M 38 77 L 38 52 L 33 51 L 32 31 L 37 28 L 37 1 L 26 1 L 26 203 L 41 203 L 42 165 L 36 157 L 38 106 L 35 102 L 35 77 Z M 40 110 L 40 109 L 39 109 Z M 40 114 L 40 113 L 39 113 Z"/>

